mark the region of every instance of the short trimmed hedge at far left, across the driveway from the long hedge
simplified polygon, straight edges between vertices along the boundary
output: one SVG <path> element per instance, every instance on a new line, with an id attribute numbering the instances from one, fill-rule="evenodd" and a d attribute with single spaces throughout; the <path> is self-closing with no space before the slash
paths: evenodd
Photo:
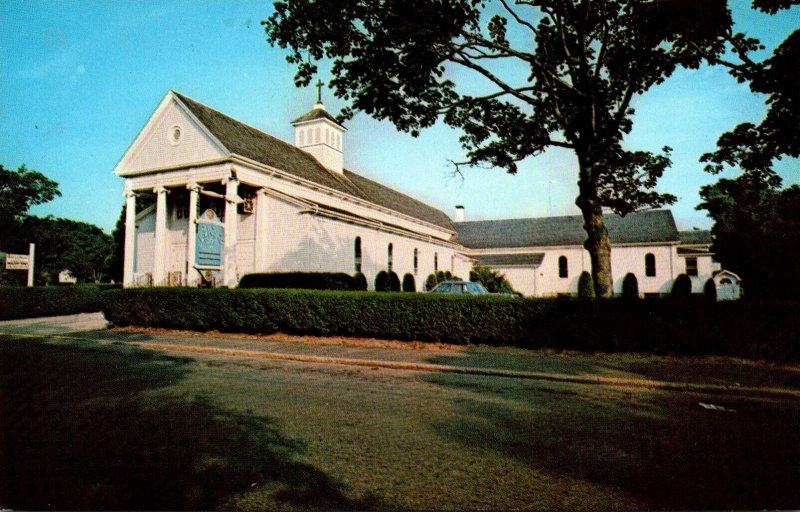
<path id="1" fill-rule="evenodd" d="M 100 311 L 101 294 L 101 287 L 95 285 L 3 287 L 0 320 Z"/>

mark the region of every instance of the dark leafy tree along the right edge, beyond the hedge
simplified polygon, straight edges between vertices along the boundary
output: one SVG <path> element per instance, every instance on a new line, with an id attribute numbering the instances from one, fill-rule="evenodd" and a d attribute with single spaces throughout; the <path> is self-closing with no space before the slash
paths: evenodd
<path id="1" fill-rule="evenodd" d="M 800 5 L 800 0 L 754 0 L 768 14 Z M 714 219 L 716 258 L 744 278 L 747 297 L 798 298 L 793 285 L 800 280 L 800 187 L 781 189 L 775 160 L 800 157 L 800 29 L 795 30 L 759 61 L 763 46 L 744 34 L 728 39 L 731 51 L 710 56 L 740 82 L 766 96 L 767 111 L 759 123 L 744 122 L 724 133 L 717 149 L 702 156 L 706 170 L 726 167 L 741 172 L 700 189 Z M 795 163 L 796 165 L 796 163 Z"/>

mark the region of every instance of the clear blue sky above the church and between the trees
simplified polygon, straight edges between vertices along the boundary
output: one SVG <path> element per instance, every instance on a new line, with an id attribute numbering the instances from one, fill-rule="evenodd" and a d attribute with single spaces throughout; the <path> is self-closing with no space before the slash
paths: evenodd
<path id="1" fill-rule="evenodd" d="M 748 5 L 734 2 L 737 28 L 768 48 L 798 25 L 798 7 L 770 17 Z M 0 163 L 25 163 L 58 181 L 63 194 L 32 212 L 110 232 L 123 202 L 112 170 L 170 88 L 292 140 L 289 121 L 312 106 L 316 90 L 296 89 L 284 52 L 266 43 L 260 21 L 271 10 L 263 0 L 0 1 Z M 341 106 L 324 98 L 331 111 Z M 679 197 L 672 210 L 680 228 L 710 227 L 694 207 L 700 186 L 718 177 L 704 173 L 698 157 L 723 131 L 758 122 L 764 98 L 722 69 L 701 68 L 675 73 L 635 107 L 626 144 L 671 146 L 673 165 L 659 189 Z M 458 132 L 447 127 L 414 139 L 363 114 L 347 127 L 348 168 L 451 216 L 456 204 L 471 220 L 578 213 L 567 151 L 525 161 L 516 176 L 474 169 L 462 179 L 447 164 L 463 157 Z M 777 168 L 786 184 L 800 183 L 796 160 Z"/>

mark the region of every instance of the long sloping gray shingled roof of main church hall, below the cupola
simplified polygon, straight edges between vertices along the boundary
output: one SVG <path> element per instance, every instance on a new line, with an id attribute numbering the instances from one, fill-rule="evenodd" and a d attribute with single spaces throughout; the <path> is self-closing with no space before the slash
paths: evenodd
<path id="1" fill-rule="evenodd" d="M 450 218 L 436 208 L 347 169 L 341 175 L 330 171 L 320 164 L 316 158 L 302 149 L 252 126 L 248 126 L 241 121 L 237 121 L 180 93 L 173 92 L 231 153 L 275 167 L 299 178 L 344 192 L 409 217 L 455 231 Z"/>

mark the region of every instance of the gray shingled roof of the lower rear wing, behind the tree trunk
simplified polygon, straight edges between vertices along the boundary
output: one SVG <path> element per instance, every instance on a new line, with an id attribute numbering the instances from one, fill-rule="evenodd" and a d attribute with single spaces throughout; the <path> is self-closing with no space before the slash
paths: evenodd
<path id="1" fill-rule="evenodd" d="M 612 244 L 677 242 L 678 229 L 669 210 L 647 210 L 603 216 Z M 472 249 L 582 245 L 586 240 L 580 215 L 529 219 L 456 222 L 458 241 Z"/>

